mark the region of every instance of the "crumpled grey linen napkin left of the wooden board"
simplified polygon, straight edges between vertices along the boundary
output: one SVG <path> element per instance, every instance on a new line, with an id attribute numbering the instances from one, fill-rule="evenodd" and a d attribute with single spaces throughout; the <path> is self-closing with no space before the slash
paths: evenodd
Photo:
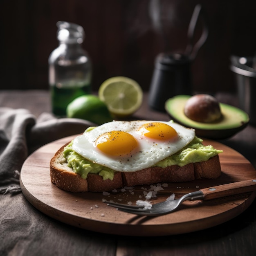
<path id="1" fill-rule="evenodd" d="M 30 153 L 89 126 L 95 124 L 82 119 L 56 119 L 49 113 L 36 119 L 26 109 L 0 108 L 0 193 L 20 192 L 20 169 Z"/>

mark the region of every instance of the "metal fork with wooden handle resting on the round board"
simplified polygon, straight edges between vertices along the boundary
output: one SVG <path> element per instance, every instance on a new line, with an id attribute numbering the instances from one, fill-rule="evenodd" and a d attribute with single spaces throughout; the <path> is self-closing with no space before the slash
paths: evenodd
<path id="1" fill-rule="evenodd" d="M 182 202 L 186 200 L 211 200 L 215 198 L 222 198 L 229 195 L 237 195 L 240 193 L 256 191 L 256 179 L 244 180 L 239 182 L 228 183 L 219 186 L 212 186 L 198 191 L 190 192 L 183 195 L 179 199 L 167 200 L 153 204 L 150 207 L 144 206 L 132 206 L 126 204 L 120 204 L 115 202 L 106 201 L 109 206 L 117 208 L 119 211 L 125 211 L 127 213 L 144 215 L 144 216 L 160 216 L 175 211 Z"/>

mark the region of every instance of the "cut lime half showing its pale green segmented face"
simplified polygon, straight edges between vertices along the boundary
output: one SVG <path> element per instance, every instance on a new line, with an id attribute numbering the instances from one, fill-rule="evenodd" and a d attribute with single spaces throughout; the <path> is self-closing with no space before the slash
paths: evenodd
<path id="1" fill-rule="evenodd" d="M 140 85 L 125 76 L 115 76 L 104 81 L 99 88 L 99 98 L 116 117 L 127 117 L 139 109 L 143 99 Z"/>

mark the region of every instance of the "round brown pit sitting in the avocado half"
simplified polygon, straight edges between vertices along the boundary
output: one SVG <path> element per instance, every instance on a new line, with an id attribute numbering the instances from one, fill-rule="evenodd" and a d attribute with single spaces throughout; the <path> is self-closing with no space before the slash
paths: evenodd
<path id="1" fill-rule="evenodd" d="M 221 119 L 220 104 L 209 94 L 196 94 L 184 106 L 184 114 L 193 121 L 211 123 Z"/>

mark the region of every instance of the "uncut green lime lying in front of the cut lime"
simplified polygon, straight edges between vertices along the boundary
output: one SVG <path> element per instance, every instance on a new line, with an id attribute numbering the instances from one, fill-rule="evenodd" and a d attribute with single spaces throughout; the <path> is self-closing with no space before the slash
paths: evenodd
<path id="1" fill-rule="evenodd" d="M 113 120 L 106 104 L 96 95 L 82 95 L 67 105 L 67 117 L 80 118 L 95 124 L 104 124 Z"/>

